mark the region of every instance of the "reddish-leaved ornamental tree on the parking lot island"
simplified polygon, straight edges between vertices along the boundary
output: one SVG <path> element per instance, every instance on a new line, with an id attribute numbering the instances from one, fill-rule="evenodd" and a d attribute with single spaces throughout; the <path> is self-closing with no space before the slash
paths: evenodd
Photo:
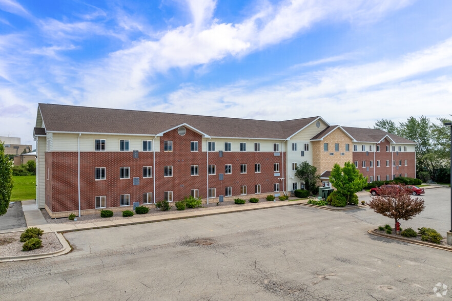
<path id="1" fill-rule="evenodd" d="M 405 185 L 383 186 L 377 189 L 379 196 L 373 197 L 368 205 L 382 216 L 394 219 L 395 224 L 399 220 L 407 221 L 425 208 L 424 200 L 412 198 L 411 192 Z"/>

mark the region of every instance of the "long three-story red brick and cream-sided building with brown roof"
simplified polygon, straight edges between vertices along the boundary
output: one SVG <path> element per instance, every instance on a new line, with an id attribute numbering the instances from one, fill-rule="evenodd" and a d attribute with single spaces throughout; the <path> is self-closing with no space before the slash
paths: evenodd
<path id="1" fill-rule="evenodd" d="M 392 157 L 408 160 L 397 170 L 414 177 L 414 142 L 380 131 L 382 141 L 376 136 L 383 134 L 369 132 L 375 141 L 366 145 L 388 144 L 390 152 L 361 154 L 354 146 L 368 140 L 360 130 L 369 129 L 353 129 L 319 116 L 265 121 L 39 104 L 36 202 L 54 218 L 190 195 L 207 202 L 278 196 L 303 188 L 295 177 L 303 161 L 324 176 L 335 163 L 387 157 L 393 146 L 409 146 Z M 374 170 L 360 171 L 367 176 Z M 386 175 L 388 169 L 381 171 Z"/>

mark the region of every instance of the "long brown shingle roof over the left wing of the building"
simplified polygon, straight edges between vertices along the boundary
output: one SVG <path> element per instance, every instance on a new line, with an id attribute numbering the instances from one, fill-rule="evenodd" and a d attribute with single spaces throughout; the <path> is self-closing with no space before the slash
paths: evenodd
<path id="1" fill-rule="evenodd" d="M 39 108 L 48 132 L 156 135 L 187 123 L 211 137 L 285 139 L 318 118 L 266 121 L 45 103 Z"/>

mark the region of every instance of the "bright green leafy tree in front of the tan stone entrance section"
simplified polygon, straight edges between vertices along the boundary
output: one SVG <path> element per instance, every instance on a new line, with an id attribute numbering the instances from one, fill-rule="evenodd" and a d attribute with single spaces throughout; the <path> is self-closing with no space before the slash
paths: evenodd
<path id="1" fill-rule="evenodd" d="M 367 178 L 359 173 L 355 164 L 345 162 L 344 167 L 334 164 L 331 170 L 330 183 L 341 195 L 351 202 L 356 192 L 361 191 L 367 184 Z"/>

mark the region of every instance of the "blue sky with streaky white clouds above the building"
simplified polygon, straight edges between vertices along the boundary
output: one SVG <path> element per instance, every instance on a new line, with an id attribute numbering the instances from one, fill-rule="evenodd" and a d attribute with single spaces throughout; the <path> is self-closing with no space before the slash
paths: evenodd
<path id="1" fill-rule="evenodd" d="M 0 0 L 0 136 L 34 145 L 39 102 L 361 127 L 447 117 L 450 12 L 448 0 Z"/>

